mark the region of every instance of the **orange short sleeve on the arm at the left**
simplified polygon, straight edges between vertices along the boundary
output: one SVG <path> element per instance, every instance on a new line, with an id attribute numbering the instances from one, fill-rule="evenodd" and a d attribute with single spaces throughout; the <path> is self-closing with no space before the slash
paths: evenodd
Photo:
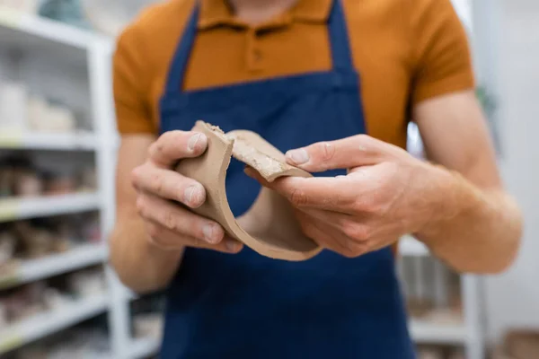
<path id="1" fill-rule="evenodd" d="M 147 93 L 149 69 L 139 41 L 137 28 L 128 27 L 119 36 L 113 58 L 114 103 L 121 135 L 156 133 Z"/>

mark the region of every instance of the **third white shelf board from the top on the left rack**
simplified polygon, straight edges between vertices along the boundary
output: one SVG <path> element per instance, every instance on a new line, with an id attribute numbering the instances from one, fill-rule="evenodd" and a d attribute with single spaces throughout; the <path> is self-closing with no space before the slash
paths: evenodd
<path id="1" fill-rule="evenodd" d="M 100 197 L 96 193 L 0 199 L 0 223 L 92 211 L 99 206 Z"/>

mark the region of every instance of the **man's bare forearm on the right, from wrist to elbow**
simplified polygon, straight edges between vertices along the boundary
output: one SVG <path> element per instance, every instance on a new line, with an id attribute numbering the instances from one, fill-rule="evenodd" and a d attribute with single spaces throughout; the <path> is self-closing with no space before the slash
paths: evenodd
<path id="1" fill-rule="evenodd" d="M 433 219 L 416 236 L 437 258 L 460 272 L 499 273 L 514 260 L 522 218 L 513 198 L 480 189 L 460 174 L 436 168 L 439 200 Z"/>

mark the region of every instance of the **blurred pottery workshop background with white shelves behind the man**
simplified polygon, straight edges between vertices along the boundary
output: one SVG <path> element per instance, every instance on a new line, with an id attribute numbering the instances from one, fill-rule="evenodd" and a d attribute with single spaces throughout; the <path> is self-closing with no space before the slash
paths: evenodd
<path id="1" fill-rule="evenodd" d="M 115 37 L 149 0 L 0 0 L 0 358 L 155 357 L 160 293 L 107 264 Z M 459 276 L 411 238 L 398 262 L 420 358 L 539 358 L 539 2 L 454 0 L 499 165 L 526 218 L 502 276 Z M 421 154 L 411 125 L 409 150 Z"/>

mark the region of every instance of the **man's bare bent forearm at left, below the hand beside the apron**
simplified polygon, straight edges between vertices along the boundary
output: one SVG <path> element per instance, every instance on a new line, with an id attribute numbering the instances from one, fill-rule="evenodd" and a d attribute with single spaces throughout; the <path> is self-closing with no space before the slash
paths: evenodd
<path id="1" fill-rule="evenodd" d="M 163 289 L 180 266 L 183 250 L 161 250 L 146 239 L 137 215 L 118 221 L 110 238 L 110 260 L 120 280 L 137 293 Z"/>

